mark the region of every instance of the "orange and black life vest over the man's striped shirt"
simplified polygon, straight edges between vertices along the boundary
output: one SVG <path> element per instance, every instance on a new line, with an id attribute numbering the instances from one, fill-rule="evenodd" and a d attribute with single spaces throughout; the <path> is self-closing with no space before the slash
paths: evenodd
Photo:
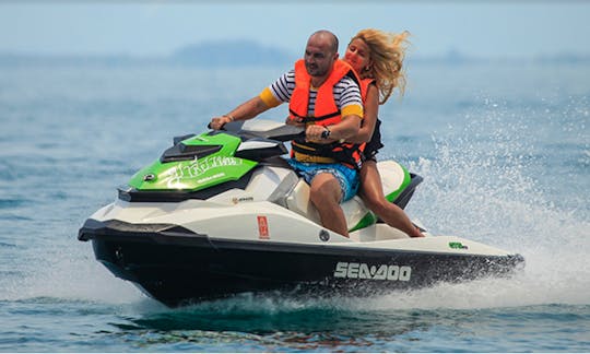
<path id="1" fill-rule="evenodd" d="M 343 60 L 337 60 L 328 79 L 317 88 L 314 116 L 308 116 L 311 76 L 307 73 L 304 60 L 298 60 L 295 63 L 295 88 L 288 104 L 290 119 L 323 127 L 342 121 L 341 111 L 334 101 L 333 88 L 346 75 L 359 83 L 351 66 Z M 359 168 L 362 164 L 359 144 L 339 141 L 331 144 L 317 144 L 307 142 L 305 139 L 297 139 L 291 145 L 292 156 L 300 162 L 340 162 L 354 168 Z"/>

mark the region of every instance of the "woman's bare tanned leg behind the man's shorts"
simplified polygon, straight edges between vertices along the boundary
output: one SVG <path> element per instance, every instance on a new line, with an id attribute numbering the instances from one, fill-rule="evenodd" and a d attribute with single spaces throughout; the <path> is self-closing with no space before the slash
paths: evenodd
<path id="1" fill-rule="evenodd" d="M 410 237 L 423 237 L 420 229 L 398 205 L 389 202 L 384 194 L 381 177 L 375 161 L 366 161 L 361 169 L 359 194 L 363 201 L 377 216 L 391 227 L 401 229 Z"/>

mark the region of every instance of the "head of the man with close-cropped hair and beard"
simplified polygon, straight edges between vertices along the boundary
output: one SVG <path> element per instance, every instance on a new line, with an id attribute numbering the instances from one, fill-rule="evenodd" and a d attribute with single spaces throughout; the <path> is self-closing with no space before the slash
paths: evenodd
<path id="1" fill-rule="evenodd" d="M 310 76 L 327 76 L 338 59 L 338 37 L 326 30 L 314 33 L 307 40 L 304 59 Z"/>

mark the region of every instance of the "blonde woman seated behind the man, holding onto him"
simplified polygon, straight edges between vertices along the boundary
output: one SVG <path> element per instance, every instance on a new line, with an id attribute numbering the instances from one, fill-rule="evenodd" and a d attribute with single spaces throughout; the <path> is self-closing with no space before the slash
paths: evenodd
<path id="1" fill-rule="evenodd" d="M 387 102 L 394 88 L 403 94 L 405 87 L 405 78 L 401 69 L 408 36 L 408 32 L 394 35 L 368 28 L 358 32 L 346 47 L 344 60 L 361 76 L 361 92 L 365 106 L 361 131 L 350 142 L 367 142 L 364 150 L 365 162 L 359 174 L 359 196 L 367 208 L 389 226 L 401 229 L 410 237 L 423 237 L 420 228 L 412 224 L 404 211 L 385 198 L 375 157 L 378 150 L 384 146 L 379 131 L 380 121 L 377 118 L 379 105 Z"/>

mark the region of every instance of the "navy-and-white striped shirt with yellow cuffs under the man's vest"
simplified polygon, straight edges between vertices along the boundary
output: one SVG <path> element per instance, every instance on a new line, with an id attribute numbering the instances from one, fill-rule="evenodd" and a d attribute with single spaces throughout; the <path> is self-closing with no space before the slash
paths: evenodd
<path id="1" fill-rule="evenodd" d="M 269 106 L 276 107 L 282 103 L 290 102 L 293 90 L 295 88 L 295 70 L 285 72 L 270 86 L 260 93 L 260 98 Z M 363 99 L 361 90 L 356 82 L 349 78 L 342 78 L 333 88 L 334 102 L 341 110 L 342 117 L 357 115 L 363 118 Z M 317 91 L 309 91 L 308 116 L 314 116 L 316 107 Z"/>

